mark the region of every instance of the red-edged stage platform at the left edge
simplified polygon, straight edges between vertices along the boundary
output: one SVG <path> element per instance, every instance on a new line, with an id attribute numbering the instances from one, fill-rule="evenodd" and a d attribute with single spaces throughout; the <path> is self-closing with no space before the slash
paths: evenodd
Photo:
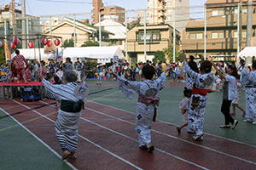
<path id="1" fill-rule="evenodd" d="M 53 83 L 53 82 L 52 82 Z M 0 83 L 1 99 L 13 99 L 20 96 L 20 88 L 44 85 L 42 82 L 2 82 Z"/>

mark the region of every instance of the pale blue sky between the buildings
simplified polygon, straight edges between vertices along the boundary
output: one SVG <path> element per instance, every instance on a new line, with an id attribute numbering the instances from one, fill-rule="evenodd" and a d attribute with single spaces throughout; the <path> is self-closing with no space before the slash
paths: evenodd
<path id="1" fill-rule="evenodd" d="M 190 0 L 190 6 L 203 6 L 207 0 Z M 11 0 L 0 0 L 0 5 L 10 3 Z M 15 0 L 15 3 L 21 3 L 21 0 Z M 26 14 L 34 16 L 54 15 L 54 14 L 81 14 L 90 13 L 92 9 L 92 0 L 26 0 Z M 145 9 L 148 0 L 103 0 L 104 6 L 119 6 L 127 10 Z M 16 4 L 16 8 L 20 8 Z M 190 10 L 190 17 L 201 19 L 204 15 L 202 8 L 193 8 Z M 198 14 L 196 14 L 198 13 Z M 84 18 L 90 18 L 83 16 Z"/>

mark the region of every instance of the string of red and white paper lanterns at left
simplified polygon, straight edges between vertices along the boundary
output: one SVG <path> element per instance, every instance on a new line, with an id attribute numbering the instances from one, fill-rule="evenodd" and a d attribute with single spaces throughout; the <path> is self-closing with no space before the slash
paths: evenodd
<path id="1" fill-rule="evenodd" d="M 10 42 L 10 48 L 16 48 L 16 46 L 20 43 L 20 39 L 18 37 L 13 38 L 13 42 Z M 42 44 L 45 46 L 47 45 L 49 48 L 53 45 L 53 42 L 48 40 L 47 38 L 42 38 Z M 55 39 L 54 41 L 55 46 L 59 46 L 61 41 L 59 39 Z M 3 42 L 0 41 L 0 48 L 3 46 Z M 27 43 L 29 48 L 34 47 L 34 42 L 30 41 Z"/>

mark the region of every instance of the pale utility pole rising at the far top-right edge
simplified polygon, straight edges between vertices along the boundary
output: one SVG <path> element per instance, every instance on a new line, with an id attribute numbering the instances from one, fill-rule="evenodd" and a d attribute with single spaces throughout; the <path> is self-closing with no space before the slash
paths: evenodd
<path id="1" fill-rule="evenodd" d="M 253 0 L 247 3 L 247 47 L 251 46 L 251 37 L 253 29 Z"/>

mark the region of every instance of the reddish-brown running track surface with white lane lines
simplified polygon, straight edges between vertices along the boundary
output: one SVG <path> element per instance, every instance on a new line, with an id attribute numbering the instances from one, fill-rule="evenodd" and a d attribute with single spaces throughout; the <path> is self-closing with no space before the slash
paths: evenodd
<path id="1" fill-rule="evenodd" d="M 1 100 L 2 109 L 61 156 L 55 137 L 53 101 Z M 43 107 L 38 108 L 38 105 Z M 256 169 L 256 147 L 211 134 L 194 142 L 192 135 L 166 122 L 153 123 L 153 154 L 138 149 L 135 116 L 88 101 L 79 125 L 78 169 Z"/>

